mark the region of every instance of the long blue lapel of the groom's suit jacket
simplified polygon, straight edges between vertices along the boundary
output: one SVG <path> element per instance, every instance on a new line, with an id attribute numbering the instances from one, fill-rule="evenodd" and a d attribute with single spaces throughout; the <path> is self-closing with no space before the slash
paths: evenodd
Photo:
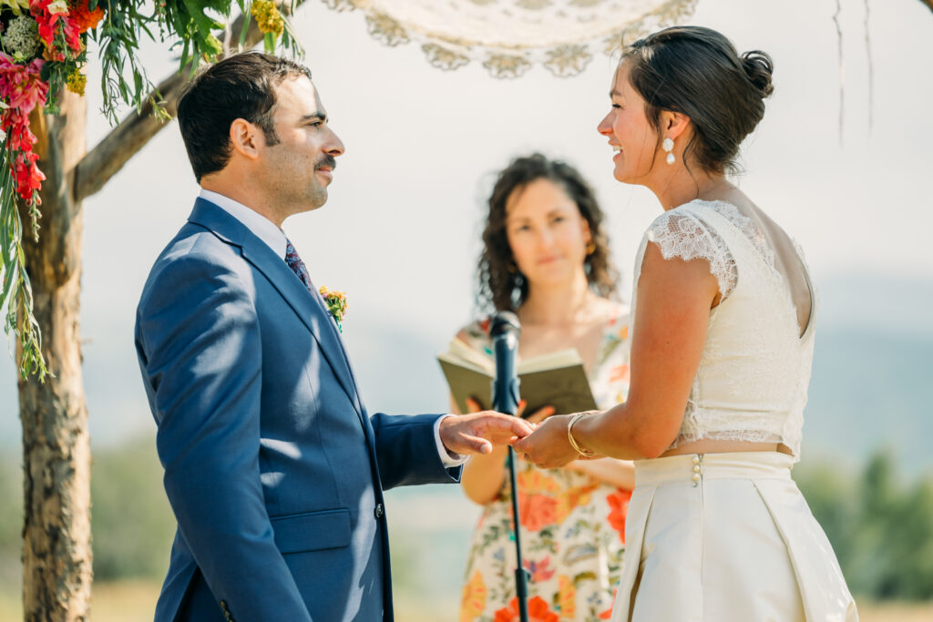
<path id="1" fill-rule="evenodd" d="M 272 286 L 285 298 L 285 302 L 295 311 L 321 346 L 321 352 L 327 359 L 327 364 L 334 370 L 341 387 L 350 397 L 356 414 L 362 420 L 363 408 L 356 391 L 346 351 L 343 349 L 330 312 L 324 307 L 320 297 L 314 296 L 304 286 L 304 283 L 301 283 L 298 276 L 288 268 L 283 257 L 275 255 L 266 242 L 262 242 L 243 223 L 214 203 L 200 198 L 196 200 L 194 211 L 191 212 L 188 221 L 208 228 L 226 242 L 239 246 L 243 251 L 244 259 L 262 272 L 272 283 Z"/>

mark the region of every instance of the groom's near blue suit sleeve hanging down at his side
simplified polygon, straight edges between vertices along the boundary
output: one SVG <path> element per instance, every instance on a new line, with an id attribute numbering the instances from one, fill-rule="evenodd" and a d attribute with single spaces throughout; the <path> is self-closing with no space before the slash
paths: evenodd
<path id="1" fill-rule="evenodd" d="M 236 270 L 188 255 L 163 267 L 137 313 L 178 526 L 217 601 L 244 620 L 310 620 L 278 548 L 259 478 L 261 341 Z"/>

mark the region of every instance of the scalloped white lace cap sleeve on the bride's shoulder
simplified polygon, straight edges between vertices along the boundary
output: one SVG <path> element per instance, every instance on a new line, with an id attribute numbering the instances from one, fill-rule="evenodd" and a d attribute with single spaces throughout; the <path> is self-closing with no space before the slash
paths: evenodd
<path id="1" fill-rule="evenodd" d="M 694 214 L 670 210 L 658 216 L 648 228 L 648 242 L 654 242 L 664 259 L 684 261 L 705 259 L 716 277 L 719 293 L 725 300 L 738 281 L 735 259 L 716 232 Z"/>

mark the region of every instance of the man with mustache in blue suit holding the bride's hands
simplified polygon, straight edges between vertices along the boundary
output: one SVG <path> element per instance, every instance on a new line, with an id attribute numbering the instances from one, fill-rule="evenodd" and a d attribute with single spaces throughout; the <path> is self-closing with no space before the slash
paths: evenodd
<path id="1" fill-rule="evenodd" d="M 232 56 L 178 104 L 202 187 L 156 260 L 135 342 L 175 534 L 170 620 L 392 620 L 383 490 L 456 481 L 516 418 L 369 416 L 340 334 L 280 228 L 343 153 L 307 68 Z"/>

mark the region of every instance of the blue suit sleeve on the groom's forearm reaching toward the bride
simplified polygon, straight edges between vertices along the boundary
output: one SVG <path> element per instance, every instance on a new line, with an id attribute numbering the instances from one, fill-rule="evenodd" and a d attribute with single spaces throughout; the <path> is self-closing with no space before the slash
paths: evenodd
<path id="1" fill-rule="evenodd" d="M 440 462 L 434 422 L 442 416 L 376 413 L 369 419 L 376 435 L 376 459 L 383 490 L 460 481 L 463 467 L 446 468 Z"/>

